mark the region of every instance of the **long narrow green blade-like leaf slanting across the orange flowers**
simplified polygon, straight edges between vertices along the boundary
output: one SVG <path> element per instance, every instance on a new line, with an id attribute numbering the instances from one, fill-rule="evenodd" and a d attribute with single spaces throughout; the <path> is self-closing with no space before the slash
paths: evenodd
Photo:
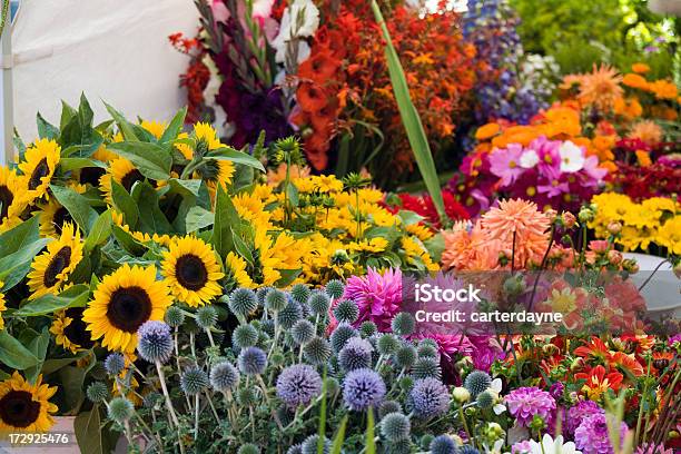
<path id="1" fill-rule="evenodd" d="M 437 209 L 441 219 L 444 220 L 446 219 L 444 200 L 442 198 L 442 193 L 437 179 L 437 170 L 435 169 L 435 161 L 433 160 L 433 154 L 431 152 L 431 146 L 428 145 L 428 139 L 426 137 L 425 129 L 423 128 L 421 117 L 418 116 L 418 112 L 416 111 L 416 108 L 412 102 L 409 87 L 407 86 L 406 77 L 404 76 L 404 69 L 402 68 L 399 57 L 397 56 L 397 51 L 393 46 L 391 33 L 387 27 L 385 26 L 385 20 L 383 19 L 381 8 L 376 3 L 376 0 L 372 0 L 372 9 L 374 11 L 376 22 L 381 27 L 381 30 L 383 31 L 383 37 L 386 41 L 385 58 L 387 61 L 388 71 L 391 73 L 393 92 L 395 93 L 395 100 L 397 101 L 397 108 L 399 109 L 399 115 L 402 117 L 402 122 L 404 124 L 404 128 L 409 139 L 409 145 L 412 146 L 412 150 L 414 151 L 416 165 L 418 166 L 421 176 L 423 177 L 428 193 L 433 198 L 435 208 Z"/>

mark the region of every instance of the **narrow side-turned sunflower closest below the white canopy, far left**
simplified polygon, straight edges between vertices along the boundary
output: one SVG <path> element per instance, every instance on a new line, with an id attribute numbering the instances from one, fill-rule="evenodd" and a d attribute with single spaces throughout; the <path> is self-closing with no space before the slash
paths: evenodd
<path id="1" fill-rule="evenodd" d="M 19 169 L 26 176 L 28 190 L 33 197 L 47 195 L 60 154 L 61 148 L 55 140 L 40 139 L 27 148 L 26 161 L 19 165 Z"/>

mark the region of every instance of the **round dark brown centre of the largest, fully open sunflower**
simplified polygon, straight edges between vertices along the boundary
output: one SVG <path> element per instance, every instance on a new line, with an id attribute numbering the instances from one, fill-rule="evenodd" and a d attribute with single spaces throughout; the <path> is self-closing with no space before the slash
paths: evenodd
<path id="1" fill-rule="evenodd" d="M 151 316 L 151 299 L 141 287 L 122 287 L 114 292 L 107 318 L 118 329 L 137 333 Z"/>

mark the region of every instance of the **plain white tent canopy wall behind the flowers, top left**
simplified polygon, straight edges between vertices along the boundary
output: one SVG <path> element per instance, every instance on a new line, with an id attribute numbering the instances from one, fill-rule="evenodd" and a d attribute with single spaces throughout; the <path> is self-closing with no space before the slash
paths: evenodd
<path id="1" fill-rule="evenodd" d="M 168 36 L 193 36 L 197 16 L 191 0 L 22 0 L 11 39 L 21 137 L 36 137 L 37 111 L 57 124 L 60 100 L 77 105 L 81 92 L 96 120 L 105 118 L 102 99 L 130 118 L 169 119 L 184 103 L 187 57 Z"/>

